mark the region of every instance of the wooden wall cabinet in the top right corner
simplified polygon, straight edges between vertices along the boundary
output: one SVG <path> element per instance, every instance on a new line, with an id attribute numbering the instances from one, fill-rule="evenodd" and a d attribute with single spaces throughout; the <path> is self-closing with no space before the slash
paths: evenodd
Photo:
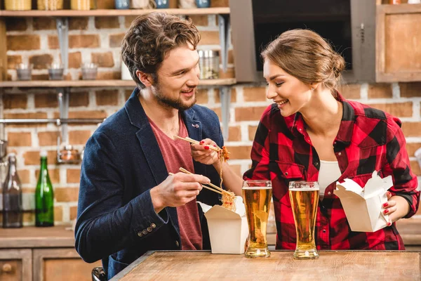
<path id="1" fill-rule="evenodd" d="M 421 4 L 376 10 L 376 81 L 421 81 Z"/>

